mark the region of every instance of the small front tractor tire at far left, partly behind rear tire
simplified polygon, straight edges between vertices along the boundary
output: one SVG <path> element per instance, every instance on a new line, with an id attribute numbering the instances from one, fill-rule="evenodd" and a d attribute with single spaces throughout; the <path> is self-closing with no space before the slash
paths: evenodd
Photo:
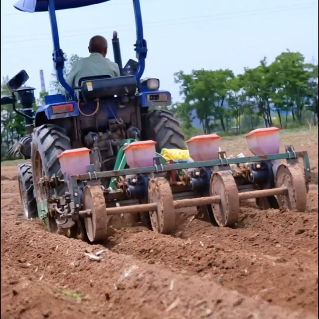
<path id="1" fill-rule="evenodd" d="M 31 163 L 23 163 L 18 165 L 18 182 L 23 215 L 26 219 L 36 218 L 38 213 L 36 200 L 33 195 Z"/>

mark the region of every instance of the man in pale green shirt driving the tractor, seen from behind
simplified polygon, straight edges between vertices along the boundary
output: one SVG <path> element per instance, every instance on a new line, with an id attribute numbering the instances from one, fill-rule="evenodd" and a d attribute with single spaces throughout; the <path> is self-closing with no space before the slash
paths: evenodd
<path id="1" fill-rule="evenodd" d="M 83 77 L 96 75 L 120 76 L 118 64 L 106 58 L 107 51 L 108 41 L 106 38 L 101 35 L 93 36 L 89 43 L 91 54 L 73 64 L 66 82 L 74 88 L 79 85 L 79 80 Z"/>

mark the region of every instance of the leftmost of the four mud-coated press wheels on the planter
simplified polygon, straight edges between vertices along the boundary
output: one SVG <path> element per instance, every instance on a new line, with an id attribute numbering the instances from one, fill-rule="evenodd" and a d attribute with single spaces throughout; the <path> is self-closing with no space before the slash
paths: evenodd
<path id="1" fill-rule="evenodd" d="M 85 231 L 91 243 L 106 239 L 107 215 L 104 194 L 100 185 L 87 185 L 83 194 L 84 209 L 91 209 L 84 218 Z"/>

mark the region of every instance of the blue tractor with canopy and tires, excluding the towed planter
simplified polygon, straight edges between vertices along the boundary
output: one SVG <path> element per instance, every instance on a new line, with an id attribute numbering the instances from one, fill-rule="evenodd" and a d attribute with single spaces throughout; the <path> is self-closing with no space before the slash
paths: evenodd
<path id="1" fill-rule="evenodd" d="M 153 140 L 156 149 L 187 149 L 178 122 L 167 111 L 150 110 L 154 106 L 171 104 L 168 91 L 159 90 L 158 79 L 141 77 L 145 69 L 147 42 L 143 37 L 140 1 L 134 0 L 137 39 L 135 51 L 138 62 L 129 60 L 122 67 L 119 39 L 113 33 L 114 60 L 119 65 L 121 77 L 99 76 L 80 79 L 77 95 L 63 77 L 64 53 L 60 48 L 56 10 L 82 7 L 107 0 L 21 0 L 14 7 L 24 12 L 48 11 L 53 39 L 53 64 L 57 78 L 67 94 L 47 95 L 45 105 L 32 114 L 35 102 L 33 88 L 23 87 L 28 76 L 24 70 L 8 82 L 11 92 L 16 92 L 25 117 L 25 132 L 15 145 L 31 163 L 19 166 L 20 191 L 27 218 L 36 217 L 44 189 L 38 186 L 43 176 L 62 177 L 58 155 L 63 151 L 87 147 L 92 150 L 94 170 L 112 170 L 123 140 Z M 15 103 L 15 96 L 1 103 Z M 14 108 L 15 109 L 15 108 Z M 33 133 L 33 138 L 31 135 Z M 32 174 L 33 167 L 33 174 Z M 59 187 L 60 195 L 64 187 Z M 34 194 L 34 195 L 33 195 Z M 38 207 L 37 207 L 38 203 Z M 54 222 L 53 222 L 54 224 Z"/>

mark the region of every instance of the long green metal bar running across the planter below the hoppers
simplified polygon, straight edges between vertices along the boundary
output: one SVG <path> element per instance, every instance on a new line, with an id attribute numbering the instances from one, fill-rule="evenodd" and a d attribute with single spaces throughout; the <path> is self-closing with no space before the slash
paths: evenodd
<path id="1" fill-rule="evenodd" d="M 306 180 L 310 181 L 311 180 L 310 162 L 309 162 L 308 153 L 306 151 L 304 152 L 293 151 L 293 152 L 287 152 L 287 153 L 252 156 L 252 157 L 245 157 L 245 158 L 234 158 L 234 159 L 220 158 L 218 160 L 206 160 L 206 161 L 196 161 L 196 162 L 190 162 L 190 163 L 177 163 L 177 164 L 163 164 L 161 166 L 149 166 L 149 167 L 140 167 L 140 168 L 127 168 L 127 169 L 118 169 L 118 170 L 110 170 L 110 171 L 101 171 L 101 172 L 96 172 L 94 174 L 94 179 L 142 174 L 142 173 L 156 173 L 156 172 L 164 172 L 169 170 L 181 170 L 181 169 L 187 169 L 187 168 L 241 164 L 246 162 L 256 162 L 256 161 L 258 162 L 262 160 L 289 161 L 289 160 L 296 160 L 298 158 L 303 158 Z M 92 175 L 93 174 L 87 173 L 87 174 L 75 175 L 72 177 L 77 180 L 89 180 L 89 179 L 93 179 Z"/>

